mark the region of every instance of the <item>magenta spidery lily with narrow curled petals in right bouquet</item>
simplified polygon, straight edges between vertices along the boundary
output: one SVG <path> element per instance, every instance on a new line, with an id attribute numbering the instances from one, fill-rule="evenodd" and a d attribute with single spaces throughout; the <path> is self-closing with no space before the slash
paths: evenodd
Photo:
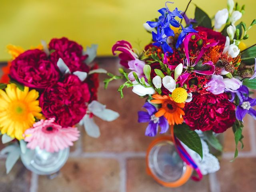
<path id="1" fill-rule="evenodd" d="M 190 73 L 196 72 L 196 73 L 202 74 L 202 75 L 213 75 L 214 70 L 215 70 L 215 66 L 212 61 L 202 63 L 202 66 L 208 66 L 208 68 L 209 68 L 208 70 L 204 70 L 204 71 L 195 70 L 194 67 L 196 66 L 196 64 L 198 64 L 198 62 L 200 61 L 200 58 L 202 58 L 202 56 L 204 55 L 206 50 L 208 50 L 209 47 L 216 46 L 219 42 L 214 42 L 214 43 L 204 45 L 202 47 L 200 53 L 198 54 L 197 58 L 195 59 L 195 61 L 192 62 L 193 60 L 191 60 L 191 62 L 190 62 L 190 57 L 188 54 L 188 52 L 189 52 L 188 51 L 188 43 L 193 35 L 198 36 L 198 34 L 196 34 L 196 33 L 190 33 L 183 40 L 186 60 L 184 61 L 185 63 L 183 65 L 185 72 L 178 77 L 178 83 L 180 83 L 181 86 L 184 84 L 184 81 L 188 78 Z M 171 70 L 174 70 L 176 68 L 176 66 L 174 66 L 174 65 L 169 65 L 168 67 Z"/>

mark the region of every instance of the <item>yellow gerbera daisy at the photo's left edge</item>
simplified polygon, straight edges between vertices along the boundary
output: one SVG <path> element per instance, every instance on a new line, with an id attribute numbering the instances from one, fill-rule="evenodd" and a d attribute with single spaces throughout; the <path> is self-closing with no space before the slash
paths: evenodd
<path id="1" fill-rule="evenodd" d="M 15 84 L 8 84 L 5 91 L 0 90 L 0 130 L 18 140 L 23 139 L 22 134 L 32 127 L 36 118 L 42 118 L 36 90 L 24 91 Z"/>

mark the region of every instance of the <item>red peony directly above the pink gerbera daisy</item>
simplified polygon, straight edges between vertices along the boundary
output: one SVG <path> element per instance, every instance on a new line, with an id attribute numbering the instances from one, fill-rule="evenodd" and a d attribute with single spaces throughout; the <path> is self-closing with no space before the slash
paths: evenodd
<path id="1" fill-rule="evenodd" d="M 83 118 L 89 100 L 88 85 L 75 75 L 68 75 L 64 82 L 50 85 L 39 99 L 44 116 L 54 117 L 64 127 L 73 126 Z"/>

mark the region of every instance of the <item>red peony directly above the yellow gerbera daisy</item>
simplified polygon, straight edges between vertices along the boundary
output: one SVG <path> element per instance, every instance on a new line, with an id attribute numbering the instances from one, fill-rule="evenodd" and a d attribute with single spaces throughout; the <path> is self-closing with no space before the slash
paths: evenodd
<path id="1" fill-rule="evenodd" d="M 10 77 L 31 88 L 46 88 L 60 78 L 58 68 L 45 52 L 35 49 L 20 54 L 12 61 Z"/>

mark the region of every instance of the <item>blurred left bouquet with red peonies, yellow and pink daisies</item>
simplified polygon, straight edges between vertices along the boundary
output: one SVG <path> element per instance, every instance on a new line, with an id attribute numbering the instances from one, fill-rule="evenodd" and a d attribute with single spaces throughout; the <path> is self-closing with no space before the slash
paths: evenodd
<path id="1" fill-rule="evenodd" d="M 118 113 L 97 101 L 98 68 L 93 60 L 97 45 L 83 47 L 67 38 L 54 38 L 30 50 L 9 45 L 12 61 L 3 68 L 0 84 L 0 131 L 9 145 L 6 170 L 20 155 L 39 148 L 59 152 L 78 140 L 76 124 L 99 137 L 93 116 L 112 121 Z"/>

